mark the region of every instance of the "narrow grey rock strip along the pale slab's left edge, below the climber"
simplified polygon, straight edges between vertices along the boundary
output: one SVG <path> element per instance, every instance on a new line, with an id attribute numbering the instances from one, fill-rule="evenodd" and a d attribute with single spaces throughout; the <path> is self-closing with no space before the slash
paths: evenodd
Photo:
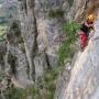
<path id="1" fill-rule="evenodd" d="M 63 99 L 64 91 L 66 90 L 68 82 L 70 80 L 72 69 L 74 68 L 74 64 L 78 56 L 79 56 L 78 52 L 75 53 L 72 62 L 65 65 L 65 68 L 63 69 L 56 82 L 56 91 L 54 95 L 54 99 Z"/>

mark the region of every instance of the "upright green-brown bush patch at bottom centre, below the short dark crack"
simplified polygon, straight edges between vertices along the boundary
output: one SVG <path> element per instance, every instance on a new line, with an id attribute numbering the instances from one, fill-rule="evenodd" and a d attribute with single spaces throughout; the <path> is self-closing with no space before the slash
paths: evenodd
<path id="1" fill-rule="evenodd" d="M 42 78 L 38 78 L 41 89 L 38 94 L 42 97 L 41 99 L 53 99 L 56 89 L 56 78 L 58 75 L 57 68 L 47 70 Z"/>

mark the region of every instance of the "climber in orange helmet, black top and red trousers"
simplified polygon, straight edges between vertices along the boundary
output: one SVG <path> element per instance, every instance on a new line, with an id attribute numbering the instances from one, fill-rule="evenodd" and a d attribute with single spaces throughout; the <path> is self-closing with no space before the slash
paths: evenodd
<path id="1" fill-rule="evenodd" d="M 91 30 L 95 31 L 94 22 L 95 22 L 95 15 L 89 14 L 87 20 L 80 26 L 80 31 L 79 31 L 78 35 L 79 35 L 81 51 L 84 51 L 88 44 L 89 33 L 91 32 Z"/>

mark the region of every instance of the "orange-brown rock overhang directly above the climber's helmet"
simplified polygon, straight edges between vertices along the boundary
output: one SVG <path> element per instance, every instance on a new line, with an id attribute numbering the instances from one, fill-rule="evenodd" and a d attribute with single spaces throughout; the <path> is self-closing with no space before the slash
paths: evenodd
<path id="1" fill-rule="evenodd" d="M 99 8 L 98 0 L 74 0 L 73 7 L 68 12 L 68 19 L 75 19 L 76 21 L 82 21 L 85 16 L 90 13 L 97 15 L 97 10 Z"/>

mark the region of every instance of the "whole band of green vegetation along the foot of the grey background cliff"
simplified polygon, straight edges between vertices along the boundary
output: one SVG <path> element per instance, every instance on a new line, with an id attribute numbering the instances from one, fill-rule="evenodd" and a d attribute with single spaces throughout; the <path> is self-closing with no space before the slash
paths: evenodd
<path id="1" fill-rule="evenodd" d="M 10 88 L 6 99 L 53 99 L 57 73 L 56 69 L 47 70 L 43 77 L 37 78 L 35 86 L 28 89 Z"/>

